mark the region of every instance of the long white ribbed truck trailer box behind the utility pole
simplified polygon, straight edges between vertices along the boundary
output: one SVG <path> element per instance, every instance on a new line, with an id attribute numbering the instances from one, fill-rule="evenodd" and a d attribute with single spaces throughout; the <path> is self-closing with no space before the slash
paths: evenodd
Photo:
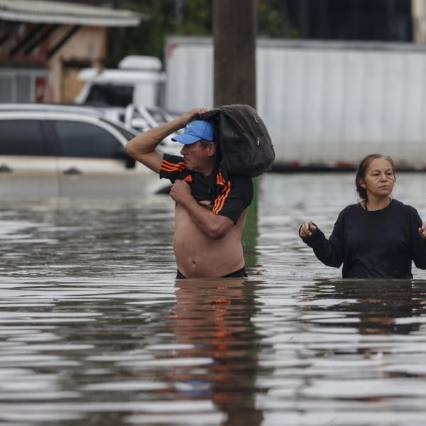
<path id="1" fill-rule="evenodd" d="M 426 169 L 426 46 L 259 39 L 257 110 L 281 167 L 353 168 L 369 153 Z M 165 107 L 213 107 L 212 38 L 171 37 Z"/>

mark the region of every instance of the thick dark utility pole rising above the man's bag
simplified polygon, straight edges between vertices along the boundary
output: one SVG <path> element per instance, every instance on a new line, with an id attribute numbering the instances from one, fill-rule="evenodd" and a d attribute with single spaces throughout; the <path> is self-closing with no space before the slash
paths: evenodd
<path id="1" fill-rule="evenodd" d="M 256 0 L 213 0 L 214 106 L 256 108 Z"/>

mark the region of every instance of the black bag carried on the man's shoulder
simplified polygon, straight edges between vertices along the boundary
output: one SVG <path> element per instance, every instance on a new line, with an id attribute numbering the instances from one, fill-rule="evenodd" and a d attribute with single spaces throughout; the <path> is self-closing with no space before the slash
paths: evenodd
<path id="1" fill-rule="evenodd" d="M 223 105 L 197 119 L 214 127 L 217 166 L 225 175 L 254 178 L 271 170 L 275 160 L 268 129 L 256 109 L 249 105 Z"/>

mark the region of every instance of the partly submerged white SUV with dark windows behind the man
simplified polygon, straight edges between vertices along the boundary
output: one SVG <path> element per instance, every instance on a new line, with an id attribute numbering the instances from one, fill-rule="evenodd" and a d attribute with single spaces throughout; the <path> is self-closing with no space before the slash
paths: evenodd
<path id="1" fill-rule="evenodd" d="M 137 133 L 91 109 L 0 104 L 0 199 L 154 193 L 165 184 L 125 151 Z"/>

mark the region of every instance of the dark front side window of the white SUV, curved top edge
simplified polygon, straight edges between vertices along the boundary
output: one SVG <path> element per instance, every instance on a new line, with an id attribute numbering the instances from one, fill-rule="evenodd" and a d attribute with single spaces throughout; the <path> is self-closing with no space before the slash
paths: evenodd
<path id="1" fill-rule="evenodd" d="M 55 129 L 65 157 L 122 158 L 123 145 L 99 126 L 80 121 L 55 121 Z"/>

